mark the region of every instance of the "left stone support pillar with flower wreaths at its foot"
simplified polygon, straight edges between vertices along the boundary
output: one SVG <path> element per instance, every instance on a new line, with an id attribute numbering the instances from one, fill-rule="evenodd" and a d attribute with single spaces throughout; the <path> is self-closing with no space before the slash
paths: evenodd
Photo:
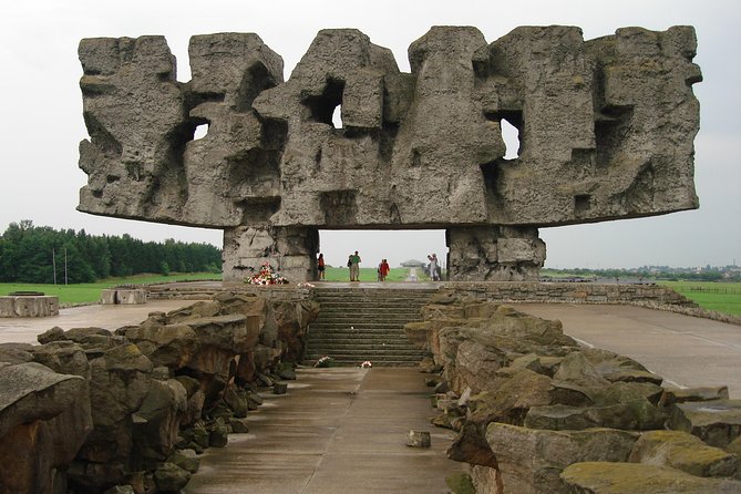
<path id="1" fill-rule="evenodd" d="M 310 227 L 246 227 L 224 230 L 224 281 L 244 281 L 267 260 L 290 284 L 317 277 L 319 230 Z"/>

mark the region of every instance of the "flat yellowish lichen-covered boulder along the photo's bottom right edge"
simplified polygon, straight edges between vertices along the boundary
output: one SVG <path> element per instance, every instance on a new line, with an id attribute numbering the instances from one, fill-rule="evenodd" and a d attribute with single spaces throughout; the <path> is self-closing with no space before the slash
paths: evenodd
<path id="1" fill-rule="evenodd" d="M 698 477 L 668 466 L 640 463 L 576 463 L 566 467 L 560 478 L 564 488 L 559 492 L 584 494 L 741 492 L 738 481 Z"/>

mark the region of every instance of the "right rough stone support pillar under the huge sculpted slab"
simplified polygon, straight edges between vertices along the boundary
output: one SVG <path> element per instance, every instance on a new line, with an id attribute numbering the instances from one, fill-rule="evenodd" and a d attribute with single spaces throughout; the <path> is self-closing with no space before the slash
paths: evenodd
<path id="1" fill-rule="evenodd" d="M 451 281 L 537 280 L 545 243 L 537 228 L 492 226 L 445 230 Z"/>

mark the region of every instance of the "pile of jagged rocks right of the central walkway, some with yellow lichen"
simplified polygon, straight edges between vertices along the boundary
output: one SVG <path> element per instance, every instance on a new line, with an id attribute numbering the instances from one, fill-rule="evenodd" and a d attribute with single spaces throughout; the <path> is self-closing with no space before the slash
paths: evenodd
<path id="1" fill-rule="evenodd" d="M 405 326 L 439 373 L 436 425 L 477 493 L 741 492 L 741 400 L 662 388 L 635 360 L 584 348 L 559 321 L 433 297 Z"/>

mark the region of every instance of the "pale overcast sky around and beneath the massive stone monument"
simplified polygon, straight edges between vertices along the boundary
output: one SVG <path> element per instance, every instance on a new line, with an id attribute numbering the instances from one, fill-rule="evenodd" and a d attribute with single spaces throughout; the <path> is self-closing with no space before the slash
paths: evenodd
<path id="1" fill-rule="evenodd" d="M 488 42 L 518 25 L 578 25 L 585 39 L 639 25 L 694 25 L 701 126 L 696 145 L 700 209 L 655 218 L 541 230 L 546 267 L 704 266 L 741 264 L 741 2 L 697 1 L 245 1 L 24 0 L 0 4 L 0 231 L 12 222 L 85 229 L 144 240 L 175 238 L 222 245 L 219 230 L 96 217 L 75 210 L 86 175 L 78 144 L 82 120 L 78 44 L 82 38 L 162 34 L 189 79 L 188 39 L 255 32 L 282 58 L 286 79 L 320 29 L 357 28 L 393 51 L 409 71 L 408 47 L 432 25 L 474 25 Z M 435 251 L 442 231 L 321 233 L 330 264 L 360 250 L 363 265 L 392 266 Z"/>

